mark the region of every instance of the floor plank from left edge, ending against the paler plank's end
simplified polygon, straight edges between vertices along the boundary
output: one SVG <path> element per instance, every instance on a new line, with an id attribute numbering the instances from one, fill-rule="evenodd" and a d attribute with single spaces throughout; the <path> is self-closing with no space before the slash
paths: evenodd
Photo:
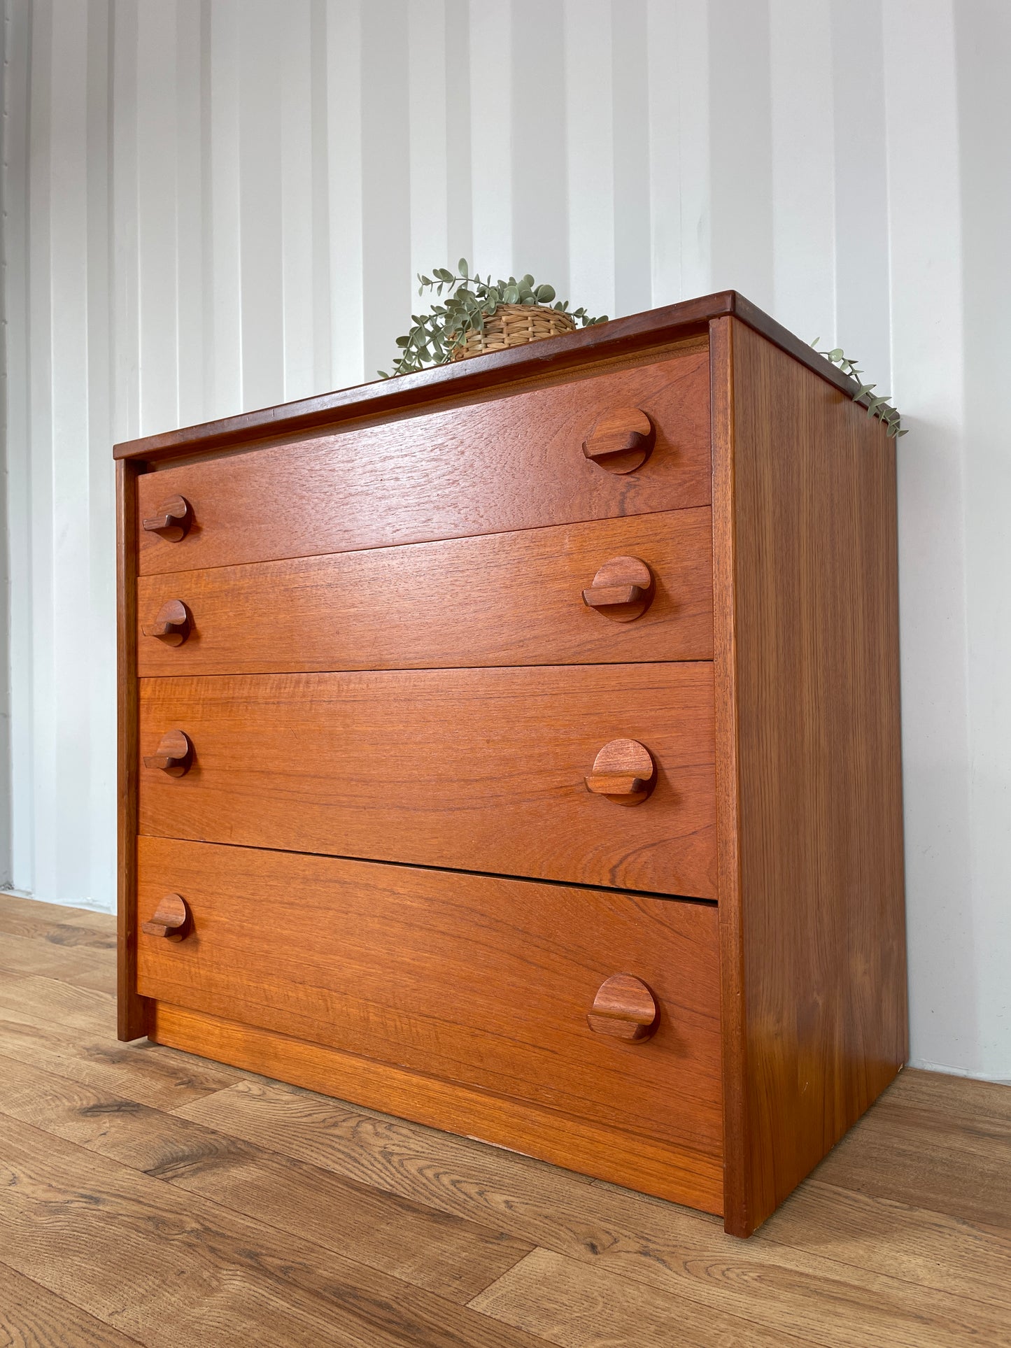
<path id="1" fill-rule="evenodd" d="M 0 1055 L 0 1113 L 464 1305 L 528 1243 Z"/>

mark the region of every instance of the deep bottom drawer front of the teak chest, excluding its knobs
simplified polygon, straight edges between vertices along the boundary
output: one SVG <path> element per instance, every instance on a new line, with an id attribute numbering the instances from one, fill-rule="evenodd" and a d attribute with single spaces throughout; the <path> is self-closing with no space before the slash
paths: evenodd
<path id="1" fill-rule="evenodd" d="M 679 1143 L 721 1148 L 712 905 L 164 838 L 139 840 L 144 996 Z M 187 929 L 183 929 L 187 930 Z M 658 1029 L 593 1033 L 632 975 Z"/>

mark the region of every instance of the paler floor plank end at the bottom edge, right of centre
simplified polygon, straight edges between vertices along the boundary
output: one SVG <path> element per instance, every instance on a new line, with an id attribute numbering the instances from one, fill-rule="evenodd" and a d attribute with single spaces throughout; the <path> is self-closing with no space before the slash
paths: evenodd
<path id="1" fill-rule="evenodd" d="M 809 1339 L 686 1302 L 535 1250 L 474 1297 L 474 1310 L 559 1348 L 803 1348 Z"/>

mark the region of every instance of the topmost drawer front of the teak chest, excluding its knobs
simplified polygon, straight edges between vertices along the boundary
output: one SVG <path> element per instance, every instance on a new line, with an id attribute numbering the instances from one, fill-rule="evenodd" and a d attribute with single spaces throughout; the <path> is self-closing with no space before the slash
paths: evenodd
<path id="1" fill-rule="evenodd" d="M 639 410 L 650 457 L 616 473 L 586 458 L 599 418 Z M 313 557 L 643 515 L 710 501 L 706 350 L 299 442 L 181 464 L 137 480 L 140 574 Z M 189 532 L 143 528 L 185 497 Z M 162 516 L 163 518 L 163 516 Z"/>

